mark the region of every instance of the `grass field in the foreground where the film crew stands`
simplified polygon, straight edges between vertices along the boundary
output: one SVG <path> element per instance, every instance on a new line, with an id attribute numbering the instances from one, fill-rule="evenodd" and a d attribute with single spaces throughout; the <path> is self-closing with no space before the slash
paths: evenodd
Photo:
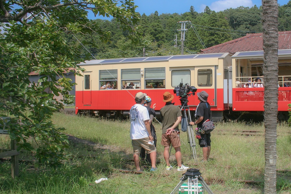
<path id="1" fill-rule="evenodd" d="M 63 113 L 54 114 L 54 123 L 65 127 L 70 138 L 70 157 L 58 169 L 37 162 L 20 163 L 20 176 L 12 179 L 10 162 L 0 162 L 0 193 L 170 193 L 180 182 L 182 172 L 165 170 L 161 126 L 157 131 L 155 172 L 126 174 L 114 169 L 134 170 L 128 121 L 100 120 Z M 249 132 L 257 131 L 257 132 Z M 287 124 L 277 128 L 277 169 L 291 169 L 291 132 Z M 264 127 L 260 124 L 217 123 L 212 132 L 210 161 L 191 157 L 187 133 L 181 133 L 181 152 L 185 165 L 200 169 L 214 193 L 262 193 L 264 181 Z M 83 140 L 83 141 L 82 141 Z M 92 143 L 94 142 L 94 143 Z M 198 141 L 197 141 L 198 142 Z M 196 143 L 197 143 L 196 142 Z M 7 135 L 0 135 L 0 147 L 9 148 Z M 197 161 L 202 149 L 196 146 Z M 33 160 L 33 152 L 22 151 L 23 159 Z M 176 165 L 174 151 L 171 164 Z M 142 165 L 144 165 L 142 163 Z M 94 181 L 108 180 L 95 184 Z M 240 180 L 258 181 L 246 185 Z M 291 193 L 291 172 L 277 173 L 277 193 Z"/>

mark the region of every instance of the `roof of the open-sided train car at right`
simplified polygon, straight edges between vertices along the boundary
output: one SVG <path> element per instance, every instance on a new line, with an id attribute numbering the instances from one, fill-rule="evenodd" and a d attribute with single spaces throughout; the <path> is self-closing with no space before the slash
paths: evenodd
<path id="1" fill-rule="evenodd" d="M 248 58 L 262 58 L 264 52 L 260 51 L 245 51 L 236 52 L 231 58 L 234 59 L 248 59 Z M 291 49 L 278 50 L 278 57 L 291 57 Z"/>

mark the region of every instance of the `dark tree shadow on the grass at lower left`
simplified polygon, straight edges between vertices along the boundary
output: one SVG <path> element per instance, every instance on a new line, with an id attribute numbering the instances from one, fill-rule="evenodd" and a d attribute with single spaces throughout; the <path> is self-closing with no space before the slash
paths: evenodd
<path id="1" fill-rule="evenodd" d="M 134 163 L 124 158 L 132 158 L 122 150 L 112 146 L 95 144 L 69 136 L 70 147 L 65 150 L 69 159 L 60 167 L 52 168 L 38 162 L 21 161 L 19 177 L 11 177 L 11 163 L 0 163 L 0 193 L 82 193 L 84 185 L 99 177 L 110 177 L 113 169 L 128 169 Z M 86 189 L 85 189 L 86 190 Z M 88 192 L 94 193 L 94 192 Z"/>

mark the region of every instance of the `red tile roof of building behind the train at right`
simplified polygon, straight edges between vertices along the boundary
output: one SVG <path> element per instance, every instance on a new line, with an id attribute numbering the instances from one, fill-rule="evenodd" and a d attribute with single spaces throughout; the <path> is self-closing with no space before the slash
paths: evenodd
<path id="1" fill-rule="evenodd" d="M 278 49 L 291 49 L 291 31 L 278 32 L 278 41 Z M 236 52 L 257 50 L 263 50 L 262 33 L 247 34 L 242 38 L 201 49 L 200 53 L 229 52 L 230 54 L 235 54 Z"/>

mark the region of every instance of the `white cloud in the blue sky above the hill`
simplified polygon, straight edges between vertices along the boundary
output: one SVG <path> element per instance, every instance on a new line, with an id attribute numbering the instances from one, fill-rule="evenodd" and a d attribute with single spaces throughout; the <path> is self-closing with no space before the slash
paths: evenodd
<path id="1" fill-rule="evenodd" d="M 220 0 L 211 3 L 209 8 L 217 12 L 225 10 L 227 8 L 237 8 L 239 6 L 252 7 L 253 5 L 254 4 L 252 0 Z"/>

